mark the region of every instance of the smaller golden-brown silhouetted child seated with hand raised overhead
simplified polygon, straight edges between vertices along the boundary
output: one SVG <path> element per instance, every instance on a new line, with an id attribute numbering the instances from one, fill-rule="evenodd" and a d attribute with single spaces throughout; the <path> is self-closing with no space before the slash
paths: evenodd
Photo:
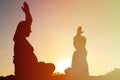
<path id="1" fill-rule="evenodd" d="M 74 37 L 74 48 L 76 49 L 72 57 L 72 68 L 65 70 L 68 80 L 87 80 L 89 76 L 88 64 L 86 60 L 87 50 L 85 48 L 86 38 L 82 36 L 82 27 L 78 27 L 77 34 Z"/>

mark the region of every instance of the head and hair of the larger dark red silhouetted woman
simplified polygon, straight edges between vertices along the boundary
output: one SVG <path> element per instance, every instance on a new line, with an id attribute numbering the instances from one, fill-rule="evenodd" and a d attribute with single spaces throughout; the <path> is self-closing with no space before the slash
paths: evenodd
<path id="1" fill-rule="evenodd" d="M 28 26 L 25 21 L 21 21 L 16 28 L 14 40 L 15 38 L 29 37 L 30 32 L 31 32 L 31 26 Z"/>

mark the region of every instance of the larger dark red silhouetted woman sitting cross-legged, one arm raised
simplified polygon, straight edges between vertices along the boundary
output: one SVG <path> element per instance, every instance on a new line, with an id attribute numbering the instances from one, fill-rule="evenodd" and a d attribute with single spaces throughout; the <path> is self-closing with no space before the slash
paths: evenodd
<path id="1" fill-rule="evenodd" d="M 16 80 L 48 80 L 55 66 L 52 63 L 38 62 L 34 48 L 27 41 L 31 32 L 32 16 L 29 6 L 24 2 L 22 7 L 25 21 L 20 21 L 14 35 L 14 66 Z"/>

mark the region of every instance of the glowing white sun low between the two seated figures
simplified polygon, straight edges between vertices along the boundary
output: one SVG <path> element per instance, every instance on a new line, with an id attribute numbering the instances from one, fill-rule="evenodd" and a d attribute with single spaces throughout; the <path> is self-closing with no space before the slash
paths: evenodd
<path id="1" fill-rule="evenodd" d="M 62 61 L 58 61 L 56 64 L 55 72 L 64 73 L 64 70 L 71 66 L 70 59 L 64 59 Z"/>

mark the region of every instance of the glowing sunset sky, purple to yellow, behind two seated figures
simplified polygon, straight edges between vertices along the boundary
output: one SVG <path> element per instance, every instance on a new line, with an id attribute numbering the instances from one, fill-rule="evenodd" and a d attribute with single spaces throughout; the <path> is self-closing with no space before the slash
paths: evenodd
<path id="1" fill-rule="evenodd" d="M 28 40 L 39 61 L 54 63 L 56 72 L 69 67 L 75 50 L 73 37 L 82 25 L 90 75 L 120 68 L 119 0 L 26 1 L 33 16 Z M 12 38 L 17 23 L 24 19 L 23 2 L 0 0 L 0 75 L 14 74 Z"/>

